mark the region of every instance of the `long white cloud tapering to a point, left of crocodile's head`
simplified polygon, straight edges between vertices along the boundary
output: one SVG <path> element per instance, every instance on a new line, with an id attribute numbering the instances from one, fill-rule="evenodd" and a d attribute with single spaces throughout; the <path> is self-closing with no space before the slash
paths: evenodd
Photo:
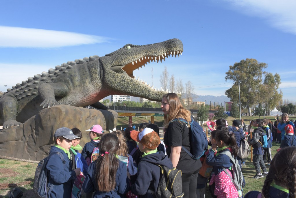
<path id="1" fill-rule="evenodd" d="M 0 26 L 0 47 L 52 48 L 103 43 L 109 39 L 66 31 Z"/>

